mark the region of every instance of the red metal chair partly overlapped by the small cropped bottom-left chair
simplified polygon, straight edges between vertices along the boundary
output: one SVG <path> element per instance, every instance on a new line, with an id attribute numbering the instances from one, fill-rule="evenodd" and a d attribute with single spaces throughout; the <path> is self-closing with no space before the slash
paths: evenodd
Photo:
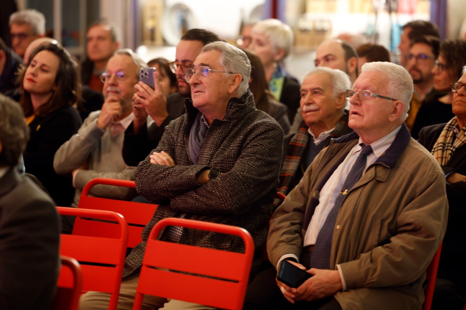
<path id="1" fill-rule="evenodd" d="M 117 222 L 117 237 L 61 235 L 60 254 L 74 257 L 81 263 L 82 290 L 110 293 L 109 310 L 117 309 L 118 294 L 123 275 L 128 224 L 121 214 L 112 211 L 57 207 L 58 213 L 67 216 L 93 218 Z"/>

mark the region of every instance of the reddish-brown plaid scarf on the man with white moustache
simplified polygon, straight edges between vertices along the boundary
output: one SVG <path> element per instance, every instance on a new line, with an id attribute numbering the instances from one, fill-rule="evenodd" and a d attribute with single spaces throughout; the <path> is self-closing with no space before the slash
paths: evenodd
<path id="1" fill-rule="evenodd" d="M 335 129 L 331 133 L 331 138 L 338 138 L 340 133 L 342 132 L 343 128 L 346 125 L 346 113 L 343 114 L 342 118 L 335 124 Z M 308 133 L 308 126 L 304 121 L 302 121 L 300 128 L 296 132 L 296 134 L 291 138 L 290 144 L 288 146 L 287 155 L 283 164 L 281 166 L 280 172 L 280 187 L 278 191 L 285 195 L 288 194 L 289 185 L 293 181 L 295 177 L 296 171 L 301 164 L 302 156 L 304 155 L 304 151 L 308 146 L 309 141 L 309 133 Z"/>

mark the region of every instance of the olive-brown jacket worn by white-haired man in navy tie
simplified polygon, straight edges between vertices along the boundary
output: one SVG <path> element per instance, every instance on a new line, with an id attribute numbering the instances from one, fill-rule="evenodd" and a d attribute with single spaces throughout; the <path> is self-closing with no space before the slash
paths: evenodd
<path id="1" fill-rule="evenodd" d="M 302 240 L 330 175 L 358 143 L 351 133 L 332 140 L 270 221 L 267 252 L 301 257 Z M 343 310 L 421 309 L 425 270 L 445 234 L 445 176 L 406 125 L 384 155 L 346 195 L 333 233 L 330 269 L 339 264 L 347 290 Z"/>

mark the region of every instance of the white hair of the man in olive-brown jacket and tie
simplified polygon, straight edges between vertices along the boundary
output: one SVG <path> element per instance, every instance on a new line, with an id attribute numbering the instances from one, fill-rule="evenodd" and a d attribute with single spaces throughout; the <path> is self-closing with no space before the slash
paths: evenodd
<path id="1" fill-rule="evenodd" d="M 388 80 L 388 96 L 403 101 L 404 103 L 404 120 L 408 117 L 414 84 L 411 75 L 400 65 L 388 61 L 367 62 L 361 67 L 361 73 L 379 71 L 386 74 Z"/>

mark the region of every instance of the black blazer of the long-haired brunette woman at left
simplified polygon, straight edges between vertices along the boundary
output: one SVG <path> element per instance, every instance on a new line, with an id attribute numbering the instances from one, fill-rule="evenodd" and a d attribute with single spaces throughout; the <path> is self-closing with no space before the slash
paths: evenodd
<path id="1" fill-rule="evenodd" d="M 82 121 L 73 107 L 62 107 L 29 124 L 29 141 L 23 154 L 26 172 L 37 176 L 57 206 L 69 206 L 75 189 L 71 175 L 57 175 L 54 156 L 58 148 L 78 132 Z"/>

